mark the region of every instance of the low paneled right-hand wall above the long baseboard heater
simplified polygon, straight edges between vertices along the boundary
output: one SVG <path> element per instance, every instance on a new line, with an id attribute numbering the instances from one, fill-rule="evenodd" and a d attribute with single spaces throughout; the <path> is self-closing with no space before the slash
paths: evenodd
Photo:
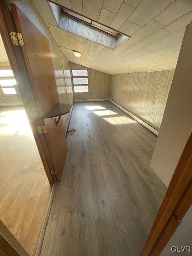
<path id="1" fill-rule="evenodd" d="M 110 98 L 160 128 L 174 70 L 111 76 Z"/>

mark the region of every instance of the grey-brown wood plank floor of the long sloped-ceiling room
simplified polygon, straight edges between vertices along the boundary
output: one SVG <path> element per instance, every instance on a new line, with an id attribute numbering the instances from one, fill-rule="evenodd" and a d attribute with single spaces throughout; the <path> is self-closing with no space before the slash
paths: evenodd
<path id="1" fill-rule="evenodd" d="M 156 136 L 112 103 L 75 103 L 41 256 L 138 256 L 166 186 Z"/>

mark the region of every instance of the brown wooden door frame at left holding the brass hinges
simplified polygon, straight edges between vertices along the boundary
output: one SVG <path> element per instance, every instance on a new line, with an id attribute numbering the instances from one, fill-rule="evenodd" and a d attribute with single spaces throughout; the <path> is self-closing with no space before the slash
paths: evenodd
<path id="1" fill-rule="evenodd" d="M 0 33 L 6 49 L 10 66 L 13 70 L 14 77 L 18 81 L 18 90 L 20 92 L 26 114 L 34 135 L 34 139 L 50 183 L 56 181 L 50 152 L 44 134 L 38 133 L 37 126 L 41 126 L 38 111 L 32 110 L 31 103 L 36 102 L 36 92 L 34 92 L 30 82 L 30 74 L 28 73 L 22 46 L 12 44 L 10 37 L 11 32 L 16 32 L 16 26 L 12 17 L 12 11 L 6 5 L 4 0 L 0 0 Z"/>

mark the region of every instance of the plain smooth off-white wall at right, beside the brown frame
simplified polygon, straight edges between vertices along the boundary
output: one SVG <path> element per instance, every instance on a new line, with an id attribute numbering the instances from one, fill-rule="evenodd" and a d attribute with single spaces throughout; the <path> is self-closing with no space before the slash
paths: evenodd
<path id="1" fill-rule="evenodd" d="M 192 129 L 192 22 L 186 28 L 151 167 L 170 183 Z"/>

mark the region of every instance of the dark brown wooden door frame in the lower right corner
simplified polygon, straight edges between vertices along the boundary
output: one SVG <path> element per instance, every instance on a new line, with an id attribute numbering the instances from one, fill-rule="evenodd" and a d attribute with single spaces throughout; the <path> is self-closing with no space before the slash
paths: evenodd
<path id="1" fill-rule="evenodd" d="M 192 132 L 140 256 L 158 256 L 192 204 Z"/>

